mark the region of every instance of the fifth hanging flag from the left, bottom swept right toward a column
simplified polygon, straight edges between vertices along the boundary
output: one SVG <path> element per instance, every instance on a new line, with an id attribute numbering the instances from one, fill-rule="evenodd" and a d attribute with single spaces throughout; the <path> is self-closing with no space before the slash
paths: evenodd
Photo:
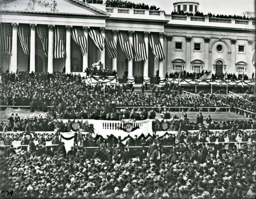
<path id="1" fill-rule="evenodd" d="M 87 41 L 84 35 L 84 30 L 81 27 L 73 27 L 71 32 L 72 38 L 77 43 L 82 51 L 82 55 L 87 53 Z"/>

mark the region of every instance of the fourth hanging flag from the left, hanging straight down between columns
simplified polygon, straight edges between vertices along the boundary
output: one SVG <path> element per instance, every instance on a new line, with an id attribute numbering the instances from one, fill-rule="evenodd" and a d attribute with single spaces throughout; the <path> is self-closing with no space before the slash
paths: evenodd
<path id="1" fill-rule="evenodd" d="M 66 28 L 55 26 L 54 28 L 54 58 L 64 58 L 66 48 Z"/>

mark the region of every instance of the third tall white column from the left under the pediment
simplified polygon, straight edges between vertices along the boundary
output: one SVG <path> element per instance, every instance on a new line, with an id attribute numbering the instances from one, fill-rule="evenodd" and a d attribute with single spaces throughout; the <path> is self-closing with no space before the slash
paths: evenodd
<path id="1" fill-rule="evenodd" d="M 48 25 L 48 73 L 53 73 L 53 36 L 54 25 Z"/>

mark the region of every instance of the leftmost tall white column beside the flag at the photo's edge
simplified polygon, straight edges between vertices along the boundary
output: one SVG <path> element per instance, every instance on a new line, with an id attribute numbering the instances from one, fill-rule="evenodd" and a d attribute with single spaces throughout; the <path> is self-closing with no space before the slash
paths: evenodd
<path id="1" fill-rule="evenodd" d="M 12 56 L 9 73 L 16 73 L 17 71 L 17 34 L 18 34 L 18 23 L 12 23 Z"/>

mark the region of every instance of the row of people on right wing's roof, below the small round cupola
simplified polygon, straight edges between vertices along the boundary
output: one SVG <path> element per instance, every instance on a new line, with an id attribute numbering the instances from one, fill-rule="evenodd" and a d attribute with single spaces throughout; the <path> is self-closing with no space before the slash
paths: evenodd
<path id="1" fill-rule="evenodd" d="M 222 19 L 242 19 L 242 20 L 255 20 L 255 17 L 246 17 L 244 16 L 236 16 L 236 15 L 223 15 L 223 14 L 212 14 L 212 13 L 208 13 L 208 14 L 204 14 L 203 12 L 199 12 L 197 11 L 195 14 L 193 14 L 192 12 L 184 12 L 183 10 L 180 11 L 174 11 L 171 13 L 172 15 L 187 15 L 187 16 L 195 16 L 195 17 L 213 17 L 213 18 L 222 18 Z"/>

